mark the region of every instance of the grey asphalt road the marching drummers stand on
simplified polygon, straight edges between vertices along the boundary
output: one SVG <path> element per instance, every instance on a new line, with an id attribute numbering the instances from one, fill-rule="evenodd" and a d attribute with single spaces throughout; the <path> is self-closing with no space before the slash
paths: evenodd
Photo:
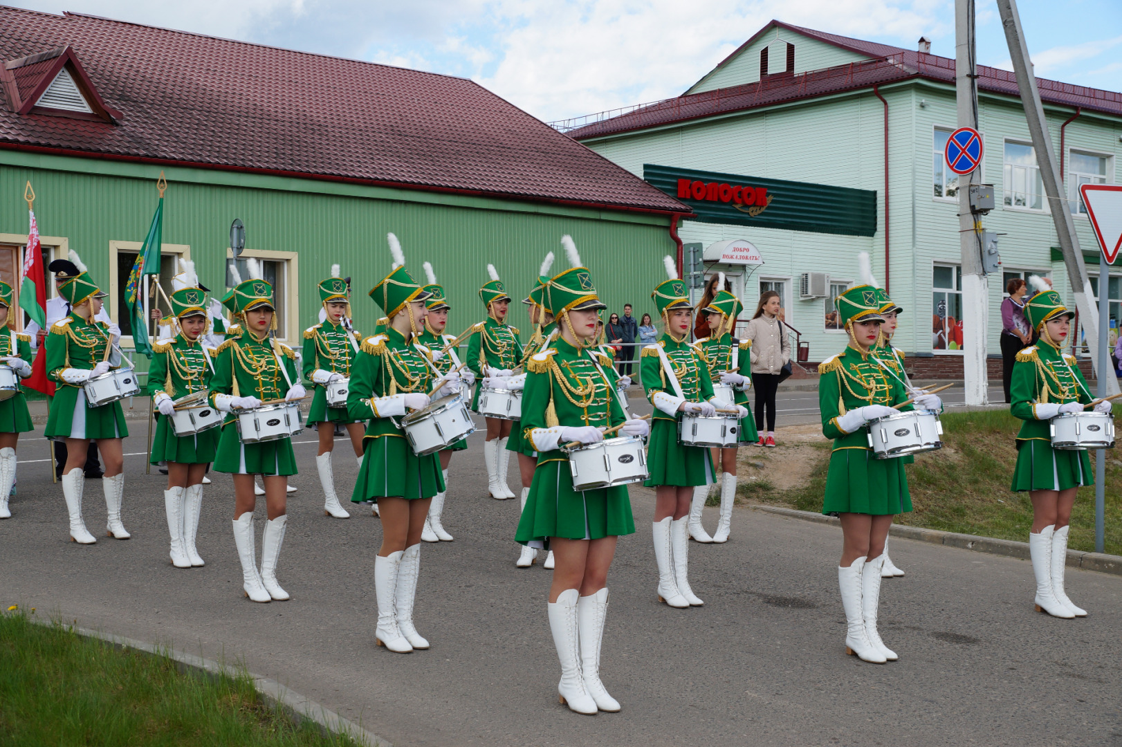
<path id="1" fill-rule="evenodd" d="M 129 426 L 125 451 L 144 452 L 142 421 Z M 885 582 L 881 629 L 901 661 L 865 664 L 844 653 L 838 529 L 738 508 L 727 544 L 691 546 L 705 607 L 673 610 L 655 599 L 653 495 L 642 488 L 604 642 L 603 677 L 623 711 L 571 713 L 557 698 L 550 574 L 515 568 L 517 500 L 484 497 L 478 434 L 452 462 L 444 525 L 456 542 L 422 547 L 415 620 L 432 648 L 392 654 L 373 636 L 379 522 L 360 507 L 348 520 L 323 516 L 313 440 L 297 437 L 303 471 L 278 570 L 293 598 L 255 605 L 241 596 L 229 478 L 213 476 L 205 494 L 206 566 L 180 570 L 167 557 L 164 478 L 144 474 L 142 455 L 126 461 L 132 540 L 103 536 L 100 485 L 88 481 L 85 518 L 100 538 L 82 546 L 35 461 L 44 442 L 25 435 L 13 518 L 0 522 L 0 603 L 245 662 L 398 747 L 1122 745 L 1122 579 L 1069 571 L 1091 615 L 1058 620 L 1032 611 L 1024 561 L 893 540 L 908 575 Z M 335 470 L 343 492 L 353 460 Z"/>

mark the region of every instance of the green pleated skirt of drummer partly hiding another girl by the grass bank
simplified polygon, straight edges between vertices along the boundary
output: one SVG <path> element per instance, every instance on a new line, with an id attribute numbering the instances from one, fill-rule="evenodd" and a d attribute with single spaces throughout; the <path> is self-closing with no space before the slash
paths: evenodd
<path id="1" fill-rule="evenodd" d="M 868 449 L 836 449 L 826 473 L 824 514 L 895 515 L 911 510 L 903 461 Z"/>

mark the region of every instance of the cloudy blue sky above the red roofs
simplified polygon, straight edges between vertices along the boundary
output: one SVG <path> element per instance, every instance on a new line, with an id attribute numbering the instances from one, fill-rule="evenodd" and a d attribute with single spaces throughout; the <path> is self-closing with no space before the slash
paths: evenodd
<path id="1" fill-rule="evenodd" d="M 12 2 L 12 0 L 7 0 Z M 470 77 L 546 121 L 677 95 L 772 18 L 954 57 L 953 0 L 15 0 Z M 978 62 L 1009 67 L 980 0 Z M 1021 0 L 1037 74 L 1122 91 L 1122 2 Z"/>

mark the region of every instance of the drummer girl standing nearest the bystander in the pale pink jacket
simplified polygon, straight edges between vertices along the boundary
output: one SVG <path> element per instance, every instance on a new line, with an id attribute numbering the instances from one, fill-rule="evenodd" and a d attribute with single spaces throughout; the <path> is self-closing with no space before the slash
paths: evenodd
<path id="1" fill-rule="evenodd" d="M 748 407 L 747 390 L 752 386 L 752 356 L 749 354 L 752 341 L 734 340 L 733 328 L 743 311 L 744 305 L 739 298 L 728 290 L 725 290 L 725 274 L 718 273 L 720 278 L 715 287 L 720 288 L 709 302 L 709 305 L 701 310 L 708 315 L 709 336 L 695 342 L 701 351 L 701 357 L 709 369 L 710 379 L 717 379 L 720 384 L 733 388 L 732 403 L 743 407 L 747 415 L 741 419 L 741 431 L 737 441 L 744 444 L 755 443 L 756 426 L 752 419 L 752 409 Z M 697 486 L 693 488 L 693 500 L 690 505 L 689 534 L 698 542 L 728 542 L 728 534 L 733 520 L 733 504 L 736 501 L 736 448 L 714 449 L 712 461 L 720 454 L 720 520 L 717 531 L 710 537 L 701 526 L 701 508 L 705 506 L 709 495 L 708 486 Z"/>

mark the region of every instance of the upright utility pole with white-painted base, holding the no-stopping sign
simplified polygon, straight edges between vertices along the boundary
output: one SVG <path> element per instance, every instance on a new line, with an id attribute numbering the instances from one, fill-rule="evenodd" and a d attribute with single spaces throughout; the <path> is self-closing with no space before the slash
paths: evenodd
<path id="1" fill-rule="evenodd" d="M 978 90 L 975 74 L 974 0 L 955 0 L 955 92 L 958 127 L 978 129 Z M 986 329 L 990 282 L 982 268 L 981 221 L 971 211 L 969 185 L 981 179 L 977 168 L 958 177 L 958 237 L 963 273 L 963 376 L 966 404 L 990 400 L 986 367 Z"/>

